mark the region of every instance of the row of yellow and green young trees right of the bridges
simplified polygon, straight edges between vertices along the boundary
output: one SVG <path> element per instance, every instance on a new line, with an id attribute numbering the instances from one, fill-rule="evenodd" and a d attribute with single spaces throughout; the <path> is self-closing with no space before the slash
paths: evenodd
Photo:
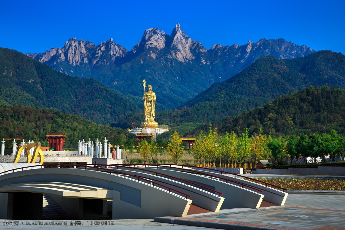
<path id="1" fill-rule="evenodd" d="M 316 161 L 317 157 L 325 159 L 328 155 L 334 160 L 345 152 L 345 137 L 339 136 L 335 130 L 286 137 L 273 137 L 262 132 L 249 136 L 248 133 L 248 128 L 239 135 L 230 132 L 221 136 L 217 128 L 210 128 L 207 133 L 200 132 L 192 151 L 197 164 L 214 166 L 219 162 L 221 167 L 243 165 L 244 168 L 255 168 L 258 160 L 286 164 L 288 158 L 298 161 L 300 156 L 311 156 Z"/>

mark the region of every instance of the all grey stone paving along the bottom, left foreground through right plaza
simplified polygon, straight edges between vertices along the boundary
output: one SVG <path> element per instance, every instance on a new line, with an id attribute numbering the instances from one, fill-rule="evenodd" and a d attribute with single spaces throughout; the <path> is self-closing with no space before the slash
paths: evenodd
<path id="1" fill-rule="evenodd" d="M 229 210 L 230 211 L 230 210 Z M 190 226 L 193 223 L 224 223 L 224 229 L 314 229 L 314 230 L 345 230 L 345 196 L 344 195 L 304 195 L 290 194 L 285 203 L 285 208 L 278 209 L 236 209 L 235 212 L 227 213 L 221 210 L 219 214 L 210 216 L 200 215 L 181 219 L 183 224 L 158 223 L 149 219 L 138 220 L 114 220 L 114 224 L 91 226 L 87 220 L 77 222 L 71 226 L 34 226 L 35 229 L 215 229 Z M 48 221 L 42 221 L 48 222 Z M 80 224 L 80 226 L 78 226 Z M 83 224 L 83 225 L 81 225 Z M 4 220 L 0 221 L 2 229 L 28 229 L 28 226 L 3 226 Z M 205 225 L 204 225 L 205 226 Z"/>

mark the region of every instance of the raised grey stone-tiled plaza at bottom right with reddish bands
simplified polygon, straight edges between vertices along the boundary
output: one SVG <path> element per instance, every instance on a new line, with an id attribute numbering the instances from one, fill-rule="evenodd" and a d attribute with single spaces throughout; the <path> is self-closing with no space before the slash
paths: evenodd
<path id="1" fill-rule="evenodd" d="M 290 194 L 285 208 L 170 218 L 170 222 L 221 229 L 345 230 L 344 195 Z M 169 219 L 169 218 L 166 218 Z M 174 219 L 171 221 L 171 219 Z M 157 219 L 158 220 L 158 219 Z M 188 224 L 189 225 L 189 224 Z"/>

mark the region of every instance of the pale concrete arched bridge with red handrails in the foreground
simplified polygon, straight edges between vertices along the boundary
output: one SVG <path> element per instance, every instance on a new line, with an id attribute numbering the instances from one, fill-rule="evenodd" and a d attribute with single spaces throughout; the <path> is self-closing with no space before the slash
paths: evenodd
<path id="1" fill-rule="evenodd" d="M 112 219 L 181 217 L 220 209 L 283 206 L 287 198 L 284 190 L 278 190 L 283 188 L 271 188 L 269 184 L 256 183 L 255 179 L 249 181 L 241 179 L 241 175 L 201 167 L 169 164 L 45 167 L 30 165 L 0 173 L 1 219 L 23 219 L 23 215 L 27 217 L 24 219 L 47 218 L 42 214 L 43 196 L 56 203 L 65 219 L 92 219 L 86 215 L 87 210 L 95 213 L 93 218 L 102 215 L 104 218 L 107 208 Z"/>

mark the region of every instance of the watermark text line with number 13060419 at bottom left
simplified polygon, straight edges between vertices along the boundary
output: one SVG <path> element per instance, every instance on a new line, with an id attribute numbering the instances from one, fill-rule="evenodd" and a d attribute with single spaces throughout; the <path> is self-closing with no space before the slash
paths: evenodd
<path id="1" fill-rule="evenodd" d="M 42 221 L 42 220 L 3 220 L 2 226 L 113 226 L 114 220 L 69 220 L 69 221 Z"/>

